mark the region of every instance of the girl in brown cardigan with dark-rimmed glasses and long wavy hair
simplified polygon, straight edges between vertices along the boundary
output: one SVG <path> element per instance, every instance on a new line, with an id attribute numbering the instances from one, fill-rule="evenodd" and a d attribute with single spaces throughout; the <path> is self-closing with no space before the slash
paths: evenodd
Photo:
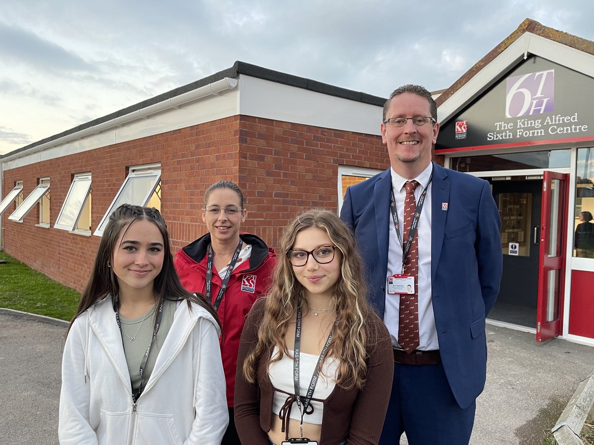
<path id="1" fill-rule="evenodd" d="M 280 249 L 239 345 L 241 443 L 377 444 L 394 358 L 365 298 L 355 239 L 336 214 L 314 209 L 289 223 Z"/>

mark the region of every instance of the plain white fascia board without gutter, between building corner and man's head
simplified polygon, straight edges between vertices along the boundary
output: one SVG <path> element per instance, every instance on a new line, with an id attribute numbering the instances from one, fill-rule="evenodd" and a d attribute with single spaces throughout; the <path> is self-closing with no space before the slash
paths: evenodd
<path id="1" fill-rule="evenodd" d="M 245 74 L 239 113 L 283 122 L 380 135 L 382 107 Z"/>

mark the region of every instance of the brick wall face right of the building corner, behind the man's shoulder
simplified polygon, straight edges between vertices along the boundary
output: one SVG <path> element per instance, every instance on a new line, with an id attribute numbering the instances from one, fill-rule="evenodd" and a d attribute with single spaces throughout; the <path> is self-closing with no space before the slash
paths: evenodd
<path id="1" fill-rule="evenodd" d="M 338 166 L 386 169 L 381 138 L 241 116 L 239 187 L 247 197 L 242 228 L 277 246 L 287 221 L 311 207 L 337 209 Z"/>

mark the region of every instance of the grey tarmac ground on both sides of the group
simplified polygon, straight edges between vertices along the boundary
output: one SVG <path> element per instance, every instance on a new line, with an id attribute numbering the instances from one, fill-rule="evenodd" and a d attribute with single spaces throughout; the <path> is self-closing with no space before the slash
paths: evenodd
<path id="1" fill-rule="evenodd" d="M 0 444 L 58 443 L 65 328 L 0 309 Z M 542 445 L 579 382 L 594 372 L 594 348 L 563 339 L 536 344 L 533 334 L 492 325 L 486 335 L 487 382 L 470 443 Z"/>

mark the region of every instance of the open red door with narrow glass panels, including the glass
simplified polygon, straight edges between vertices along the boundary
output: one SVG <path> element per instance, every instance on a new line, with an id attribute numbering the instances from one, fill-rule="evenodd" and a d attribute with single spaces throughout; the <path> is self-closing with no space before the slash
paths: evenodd
<path id="1" fill-rule="evenodd" d="M 565 282 L 568 174 L 545 171 L 542 179 L 536 341 L 561 334 Z"/>

